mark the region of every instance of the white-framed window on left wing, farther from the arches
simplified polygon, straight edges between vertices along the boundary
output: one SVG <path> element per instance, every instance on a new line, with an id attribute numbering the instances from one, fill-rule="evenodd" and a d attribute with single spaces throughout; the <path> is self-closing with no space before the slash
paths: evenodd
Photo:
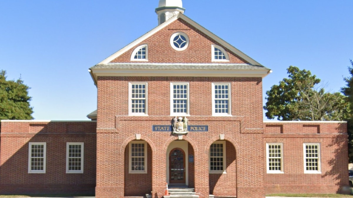
<path id="1" fill-rule="evenodd" d="M 29 142 L 28 173 L 45 173 L 46 152 L 46 142 Z"/>

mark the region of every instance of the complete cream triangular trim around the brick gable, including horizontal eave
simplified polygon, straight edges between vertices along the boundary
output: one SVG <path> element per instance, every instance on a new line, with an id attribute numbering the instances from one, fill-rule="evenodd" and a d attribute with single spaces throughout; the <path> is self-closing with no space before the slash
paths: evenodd
<path id="1" fill-rule="evenodd" d="M 175 20 L 183 19 L 195 29 L 203 32 L 230 52 L 243 59 L 246 63 L 156 63 L 156 62 L 112 62 L 115 58 L 124 54 L 128 50 L 141 44 L 156 32 L 162 30 Z M 265 77 L 272 71 L 262 66 L 231 44 L 227 43 L 214 33 L 205 29 L 195 21 L 179 13 L 166 22 L 158 25 L 151 31 L 145 33 L 113 55 L 104 59 L 89 69 L 95 85 L 97 76 L 208 76 L 208 77 Z"/>

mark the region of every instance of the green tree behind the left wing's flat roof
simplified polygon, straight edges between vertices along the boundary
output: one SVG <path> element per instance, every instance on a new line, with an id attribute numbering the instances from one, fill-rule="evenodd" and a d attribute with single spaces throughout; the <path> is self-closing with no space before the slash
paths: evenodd
<path id="1" fill-rule="evenodd" d="M 0 119 L 33 119 L 28 89 L 29 87 L 20 78 L 16 81 L 6 80 L 6 71 L 0 71 Z"/>

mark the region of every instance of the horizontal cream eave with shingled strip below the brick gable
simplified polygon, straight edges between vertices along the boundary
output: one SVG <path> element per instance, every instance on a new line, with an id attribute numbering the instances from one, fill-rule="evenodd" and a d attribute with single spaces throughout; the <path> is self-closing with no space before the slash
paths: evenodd
<path id="1" fill-rule="evenodd" d="M 98 76 L 258 77 L 272 70 L 247 64 L 105 64 L 89 69 L 95 85 Z"/>

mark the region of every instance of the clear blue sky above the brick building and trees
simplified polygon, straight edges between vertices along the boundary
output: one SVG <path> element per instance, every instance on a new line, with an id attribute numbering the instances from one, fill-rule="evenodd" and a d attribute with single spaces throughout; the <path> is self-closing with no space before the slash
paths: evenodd
<path id="1" fill-rule="evenodd" d="M 157 26 L 156 7 L 158 0 L 1 0 L 0 69 L 31 87 L 35 119 L 87 120 L 97 106 L 88 68 Z M 327 91 L 345 86 L 352 0 L 183 0 L 183 7 L 273 70 L 264 96 L 290 65 L 310 70 Z"/>

